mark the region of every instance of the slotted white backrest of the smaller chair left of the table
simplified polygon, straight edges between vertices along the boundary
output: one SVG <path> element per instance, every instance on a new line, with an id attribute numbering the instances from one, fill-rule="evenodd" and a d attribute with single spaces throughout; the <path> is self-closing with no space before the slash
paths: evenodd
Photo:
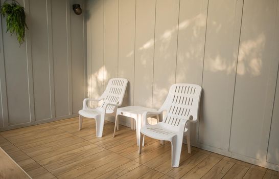
<path id="1" fill-rule="evenodd" d="M 125 95 L 127 83 L 128 80 L 125 78 L 111 78 L 108 81 L 105 92 L 101 96 L 101 98 L 104 99 L 101 108 L 103 108 L 106 103 L 120 106 Z M 108 110 L 114 110 L 114 108 L 114 106 L 107 107 Z"/>

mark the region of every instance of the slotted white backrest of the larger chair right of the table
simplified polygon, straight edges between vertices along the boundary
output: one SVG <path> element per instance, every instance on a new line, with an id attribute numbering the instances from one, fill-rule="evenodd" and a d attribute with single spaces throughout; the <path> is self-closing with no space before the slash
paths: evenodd
<path id="1" fill-rule="evenodd" d="M 170 88 L 167 99 L 159 110 L 167 111 L 164 125 L 175 129 L 181 120 L 193 117 L 197 121 L 199 111 L 199 101 L 201 96 L 201 86 L 196 84 L 173 84 Z"/>

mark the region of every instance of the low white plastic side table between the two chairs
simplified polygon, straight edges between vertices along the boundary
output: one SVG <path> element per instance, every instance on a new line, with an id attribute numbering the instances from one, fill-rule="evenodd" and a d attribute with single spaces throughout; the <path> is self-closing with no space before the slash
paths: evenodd
<path id="1" fill-rule="evenodd" d="M 113 132 L 113 137 L 115 135 L 115 129 L 117 128 L 117 124 L 118 124 L 118 115 L 122 115 L 122 116 L 126 116 L 129 118 L 132 118 L 135 120 L 135 127 L 136 127 L 136 143 L 137 146 L 139 145 L 139 140 L 141 139 L 141 128 L 144 127 L 144 125 L 146 124 L 146 122 L 143 121 L 143 114 L 146 111 L 151 111 L 151 112 L 155 112 L 157 111 L 156 109 L 152 109 L 152 108 L 148 108 L 148 107 L 143 107 L 143 106 L 127 106 L 127 107 L 121 107 L 117 109 L 117 116 L 115 118 L 115 126 L 114 126 L 114 132 Z M 152 117 L 154 115 L 148 116 L 148 117 Z M 156 115 L 157 118 L 157 122 L 159 119 L 159 115 Z M 133 120 L 131 120 L 131 129 L 134 129 L 133 126 Z M 148 123 L 148 122 L 147 122 Z M 143 141 L 143 146 L 144 146 L 144 141 Z"/>

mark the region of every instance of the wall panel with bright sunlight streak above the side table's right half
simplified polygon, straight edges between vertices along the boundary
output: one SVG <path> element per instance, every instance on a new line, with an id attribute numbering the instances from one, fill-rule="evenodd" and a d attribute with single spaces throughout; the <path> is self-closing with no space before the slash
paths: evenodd
<path id="1" fill-rule="evenodd" d="M 134 105 L 152 107 L 156 0 L 136 1 Z"/>

